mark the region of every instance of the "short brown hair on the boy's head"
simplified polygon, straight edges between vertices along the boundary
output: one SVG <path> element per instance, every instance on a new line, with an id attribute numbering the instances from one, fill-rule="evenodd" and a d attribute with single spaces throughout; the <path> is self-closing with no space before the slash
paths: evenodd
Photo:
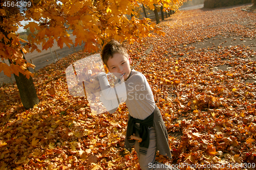
<path id="1" fill-rule="evenodd" d="M 123 54 L 125 57 L 128 57 L 125 45 L 120 44 L 116 40 L 111 40 L 104 45 L 101 53 L 101 59 L 107 67 L 108 65 L 106 64 L 106 62 L 108 62 L 109 58 L 113 58 L 113 55 L 115 53 Z"/>

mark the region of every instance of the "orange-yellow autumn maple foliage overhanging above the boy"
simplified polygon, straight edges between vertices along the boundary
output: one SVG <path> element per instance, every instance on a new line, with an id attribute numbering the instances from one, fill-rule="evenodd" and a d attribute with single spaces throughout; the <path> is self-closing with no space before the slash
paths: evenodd
<path id="1" fill-rule="evenodd" d="M 110 1 L 40 1 L 14 0 L 2 1 L 0 16 L 0 55 L 1 59 L 9 60 L 10 65 L 0 62 L 0 72 L 11 76 L 18 73 L 33 76 L 27 67 L 34 65 L 24 59 L 22 52 L 33 52 L 42 45 L 42 50 L 53 46 L 54 40 L 60 48 L 65 43 L 73 44 L 68 30 L 76 36 L 74 45 L 85 42 L 84 51 L 95 52 L 109 39 L 127 40 L 130 43 L 141 42 L 145 36 L 153 36 L 152 32 L 163 34 L 149 18 L 136 18 L 135 8 L 144 4 L 150 9 L 154 5 L 162 5 L 165 10 L 177 9 L 186 0 L 110 0 Z M 25 4 L 26 3 L 26 4 Z M 133 14 L 131 19 L 127 16 Z M 28 41 L 16 34 L 21 21 L 27 21 L 25 29 L 30 29 Z M 68 26 L 68 27 L 66 27 Z M 27 44 L 22 47 L 20 42 Z"/>

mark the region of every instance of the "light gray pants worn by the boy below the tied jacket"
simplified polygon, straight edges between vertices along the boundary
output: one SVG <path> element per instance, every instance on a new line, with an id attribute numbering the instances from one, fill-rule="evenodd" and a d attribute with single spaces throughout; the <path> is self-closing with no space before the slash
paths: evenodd
<path id="1" fill-rule="evenodd" d="M 148 146 L 146 155 L 139 153 L 139 142 L 138 140 L 135 141 L 135 151 L 137 152 L 137 157 L 139 159 L 140 168 L 142 170 L 176 170 L 178 168 L 174 168 L 172 166 L 169 166 L 167 164 L 163 164 L 160 162 L 155 161 L 156 159 L 156 144 L 157 144 L 157 138 L 156 138 L 156 130 L 154 127 L 148 128 L 150 129 L 150 145 Z M 139 136 L 139 131 L 136 127 L 136 136 Z"/>

